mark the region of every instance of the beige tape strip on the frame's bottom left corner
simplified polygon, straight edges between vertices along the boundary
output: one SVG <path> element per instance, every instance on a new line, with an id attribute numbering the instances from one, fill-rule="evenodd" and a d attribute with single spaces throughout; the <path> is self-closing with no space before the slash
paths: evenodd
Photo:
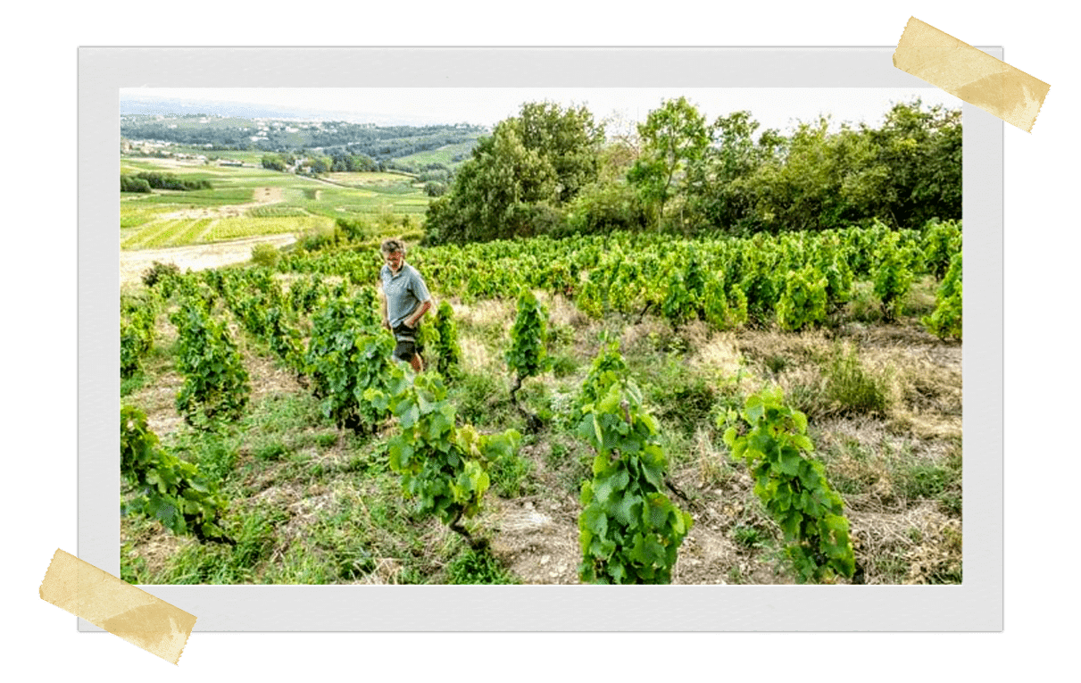
<path id="1" fill-rule="evenodd" d="M 196 617 L 57 549 L 38 595 L 174 665 Z"/>

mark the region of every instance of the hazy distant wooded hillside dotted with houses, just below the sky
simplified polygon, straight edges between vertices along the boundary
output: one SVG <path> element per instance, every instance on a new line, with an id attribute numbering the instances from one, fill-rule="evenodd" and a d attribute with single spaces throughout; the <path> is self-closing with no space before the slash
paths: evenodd
<path id="1" fill-rule="evenodd" d="M 244 119 L 206 113 L 181 116 L 128 115 L 120 118 L 120 135 L 176 145 L 222 150 L 366 155 L 388 168 L 422 171 L 438 163 L 457 165 L 469 156 L 480 125 L 388 125 L 346 121 Z M 428 156 L 435 153 L 435 156 Z"/>

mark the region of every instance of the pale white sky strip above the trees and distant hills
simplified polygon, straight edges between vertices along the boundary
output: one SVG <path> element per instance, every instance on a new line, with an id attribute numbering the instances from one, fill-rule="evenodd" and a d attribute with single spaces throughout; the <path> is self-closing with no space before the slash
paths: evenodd
<path id="1" fill-rule="evenodd" d="M 121 113 L 202 112 L 345 120 L 377 125 L 472 123 L 491 126 L 525 102 L 585 105 L 595 120 L 642 121 L 665 99 L 685 96 L 706 119 L 746 109 L 761 129 L 791 132 L 798 122 L 829 116 L 877 126 L 893 103 L 920 97 L 959 109 L 937 88 L 122 88 Z M 179 105 L 179 106 L 177 106 Z M 620 124 L 610 125 L 610 131 Z"/>

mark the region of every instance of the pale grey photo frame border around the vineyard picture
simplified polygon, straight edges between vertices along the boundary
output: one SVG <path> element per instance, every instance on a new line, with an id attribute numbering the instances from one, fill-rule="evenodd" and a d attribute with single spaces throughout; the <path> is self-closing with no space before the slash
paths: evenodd
<path id="1" fill-rule="evenodd" d="M 121 88 L 934 88 L 894 68 L 893 50 L 80 48 L 79 557 L 120 574 Z M 967 104 L 962 116 L 963 584 L 141 588 L 196 615 L 196 632 L 1001 631 L 1003 123 Z"/>

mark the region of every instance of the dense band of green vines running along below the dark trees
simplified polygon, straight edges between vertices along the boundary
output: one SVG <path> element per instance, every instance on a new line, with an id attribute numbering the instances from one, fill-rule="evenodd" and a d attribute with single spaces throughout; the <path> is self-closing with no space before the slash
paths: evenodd
<path id="1" fill-rule="evenodd" d="M 422 247 L 410 260 L 437 292 L 464 302 L 540 290 L 573 299 L 593 318 L 652 311 L 673 324 L 703 320 L 718 330 L 776 323 L 797 331 L 823 324 L 852 299 L 857 281 L 871 282 L 882 314 L 894 320 L 916 278 L 930 274 L 945 284 L 952 270 L 956 284 L 939 293 L 942 311 L 924 324 L 944 338 L 960 338 L 960 224 L 931 222 L 921 230 L 876 224 L 751 238 L 543 237 Z M 370 281 L 377 268 L 377 250 L 370 244 L 296 253 L 279 265 L 285 272 L 357 283 Z"/>

